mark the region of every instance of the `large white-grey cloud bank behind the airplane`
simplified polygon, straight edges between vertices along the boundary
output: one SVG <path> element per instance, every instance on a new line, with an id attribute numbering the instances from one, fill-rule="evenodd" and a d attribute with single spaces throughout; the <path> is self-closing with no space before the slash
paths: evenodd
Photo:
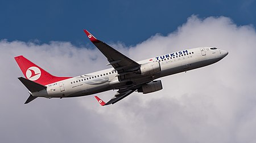
<path id="1" fill-rule="evenodd" d="M 104 41 L 104 40 L 103 40 Z M 88 41 L 89 42 L 89 41 Z M 134 47 L 112 44 L 134 60 L 199 46 L 229 51 L 220 62 L 163 77 L 163 90 L 134 93 L 101 107 L 93 96 L 44 99 L 28 105 L 13 57 L 24 55 L 53 75 L 77 76 L 108 68 L 97 49 L 69 42 L 38 45 L 0 41 L 2 142 L 255 142 L 256 33 L 229 18 L 188 18 L 177 31 Z M 145 51 L 147 51 L 145 53 Z M 115 92 L 98 94 L 108 101 Z"/>

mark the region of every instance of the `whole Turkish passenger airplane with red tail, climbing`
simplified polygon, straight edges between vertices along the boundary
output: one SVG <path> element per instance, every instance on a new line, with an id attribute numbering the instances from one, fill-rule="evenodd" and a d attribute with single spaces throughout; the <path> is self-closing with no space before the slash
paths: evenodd
<path id="1" fill-rule="evenodd" d="M 22 55 L 14 57 L 23 75 L 18 79 L 29 90 L 25 104 L 37 97 L 81 97 L 118 90 L 108 102 L 94 96 L 101 106 L 114 104 L 133 92 L 143 94 L 162 90 L 160 77 L 208 66 L 228 55 L 217 47 L 197 47 L 176 51 L 135 62 L 84 30 L 89 40 L 101 51 L 112 68 L 76 77 L 53 76 Z"/>

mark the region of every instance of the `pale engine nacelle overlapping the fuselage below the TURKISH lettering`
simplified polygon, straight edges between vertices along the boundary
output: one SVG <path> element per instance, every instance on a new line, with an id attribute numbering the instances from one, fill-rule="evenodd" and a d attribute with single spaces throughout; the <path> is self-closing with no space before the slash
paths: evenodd
<path id="1" fill-rule="evenodd" d="M 139 73 L 143 75 L 149 75 L 149 74 L 152 75 L 160 71 L 161 71 L 161 68 L 160 68 L 159 62 L 145 63 L 141 65 L 141 68 L 139 68 Z"/>

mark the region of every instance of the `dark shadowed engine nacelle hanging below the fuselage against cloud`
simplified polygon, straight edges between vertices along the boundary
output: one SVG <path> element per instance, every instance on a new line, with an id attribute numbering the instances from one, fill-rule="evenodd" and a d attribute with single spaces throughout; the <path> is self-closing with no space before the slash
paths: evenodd
<path id="1" fill-rule="evenodd" d="M 143 94 L 156 92 L 163 89 L 161 80 L 151 81 L 150 83 L 143 84 L 141 88 L 138 89 L 138 92 L 143 92 Z"/>

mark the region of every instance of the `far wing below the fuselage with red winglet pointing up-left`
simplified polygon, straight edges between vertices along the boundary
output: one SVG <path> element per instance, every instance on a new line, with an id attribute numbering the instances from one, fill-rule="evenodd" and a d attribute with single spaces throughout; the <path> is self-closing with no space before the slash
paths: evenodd
<path id="1" fill-rule="evenodd" d="M 110 105 L 110 104 L 114 104 L 118 101 L 120 101 L 121 99 L 129 96 L 131 93 L 133 93 L 136 89 L 129 89 L 129 88 L 123 88 L 123 89 L 119 89 L 117 94 L 115 94 L 115 96 L 110 99 L 109 102 L 105 103 L 104 101 L 102 101 L 100 98 L 98 98 L 97 96 L 95 96 L 95 98 L 97 99 L 97 101 L 100 103 L 101 106 L 105 106 L 105 105 Z"/>

